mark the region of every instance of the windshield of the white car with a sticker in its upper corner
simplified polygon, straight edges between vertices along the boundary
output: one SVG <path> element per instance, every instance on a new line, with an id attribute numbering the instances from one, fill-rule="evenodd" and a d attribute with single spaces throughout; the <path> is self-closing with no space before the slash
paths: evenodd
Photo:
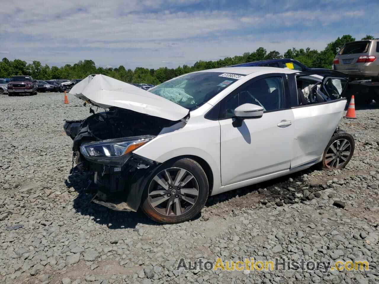
<path id="1" fill-rule="evenodd" d="M 187 109 L 195 109 L 244 75 L 222 72 L 197 72 L 164 82 L 149 92 Z"/>

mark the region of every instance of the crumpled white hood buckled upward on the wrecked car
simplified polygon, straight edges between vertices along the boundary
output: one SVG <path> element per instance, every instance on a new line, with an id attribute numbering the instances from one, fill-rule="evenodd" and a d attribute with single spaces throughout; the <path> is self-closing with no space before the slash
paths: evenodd
<path id="1" fill-rule="evenodd" d="M 105 75 L 89 75 L 69 94 L 100 108 L 116 106 L 168 120 L 180 120 L 189 110 L 163 97 Z"/>

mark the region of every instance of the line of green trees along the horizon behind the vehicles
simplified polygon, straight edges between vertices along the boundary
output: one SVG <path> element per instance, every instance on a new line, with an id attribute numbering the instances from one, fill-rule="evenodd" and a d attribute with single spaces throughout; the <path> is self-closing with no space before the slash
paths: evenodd
<path id="1" fill-rule="evenodd" d="M 362 40 L 374 39 L 373 36 L 366 35 Z M 160 84 L 170 80 L 176 76 L 180 76 L 189 72 L 225 67 L 233 64 L 240 64 L 251 61 L 265 59 L 292 58 L 300 61 L 305 66 L 311 68 L 327 68 L 331 69 L 334 56 L 338 50 L 346 43 L 355 41 L 356 39 L 350 34 L 338 37 L 335 41 L 330 42 L 324 50 L 318 51 L 310 47 L 300 49 L 288 49 L 283 55 L 279 51 L 273 50 L 267 52 L 263 47 L 257 48 L 253 52 L 245 52 L 243 55 L 234 57 L 226 57 L 217 61 L 197 61 L 193 66 L 183 65 L 176 69 L 160 67 L 158 69 L 147 69 L 136 67 L 134 70 L 126 69 L 124 66 L 117 68 L 96 67 L 92 60 L 84 60 L 74 65 L 66 64 L 62 67 L 56 67 L 39 61 L 27 64 L 26 61 L 14 59 L 13 61 L 3 58 L 0 62 L 0 78 L 9 78 L 15 75 L 29 75 L 34 79 L 50 80 L 50 79 L 82 79 L 91 74 L 103 74 L 117 80 L 127 83 L 146 83 Z"/>

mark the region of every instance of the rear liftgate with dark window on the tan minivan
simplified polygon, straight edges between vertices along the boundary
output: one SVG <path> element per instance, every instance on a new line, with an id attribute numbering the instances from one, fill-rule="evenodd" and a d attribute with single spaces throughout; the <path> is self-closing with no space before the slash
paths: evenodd
<path id="1" fill-rule="evenodd" d="M 370 41 L 355 41 L 345 44 L 338 52 L 337 70 L 359 70 L 365 62 L 357 62 L 359 56 L 368 55 Z"/>

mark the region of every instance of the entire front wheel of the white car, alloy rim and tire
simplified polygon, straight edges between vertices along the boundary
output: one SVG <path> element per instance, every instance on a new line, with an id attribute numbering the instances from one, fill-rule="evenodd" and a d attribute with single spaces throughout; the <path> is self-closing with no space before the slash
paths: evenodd
<path id="1" fill-rule="evenodd" d="M 184 222 L 199 214 L 208 192 L 202 167 L 192 159 L 180 159 L 164 163 L 153 173 L 141 208 L 157 222 Z"/>

